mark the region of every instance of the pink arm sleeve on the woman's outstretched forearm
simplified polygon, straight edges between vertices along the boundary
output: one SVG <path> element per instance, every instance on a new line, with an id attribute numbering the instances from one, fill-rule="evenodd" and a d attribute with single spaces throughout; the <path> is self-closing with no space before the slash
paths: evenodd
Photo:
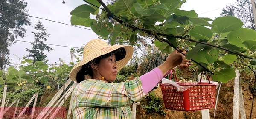
<path id="1" fill-rule="evenodd" d="M 166 73 L 166 75 L 168 74 L 169 73 Z M 140 76 L 144 93 L 148 94 L 148 92 L 151 91 L 154 88 L 154 86 L 156 86 L 157 83 L 161 81 L 162 78 L 163 78 L 163 72 L 158 67 Z"/>

